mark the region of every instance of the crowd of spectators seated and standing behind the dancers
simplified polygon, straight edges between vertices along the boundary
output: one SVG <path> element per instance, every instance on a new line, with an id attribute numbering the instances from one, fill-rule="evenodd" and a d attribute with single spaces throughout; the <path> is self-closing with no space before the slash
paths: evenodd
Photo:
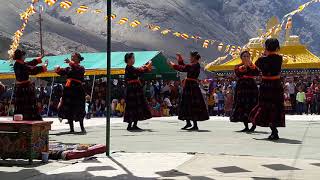
<path id="1" fill-rule="evenodd" d="M 287 114 L 320 114 L 320 79 L 317 76 L 284 76 L 284 106 Z M 125 89 L 123 80 L 111 83 L 111 115 L 122 117 L 125 111 Z M 154 117 L 175 116 L 182 93 L 180 81 L 144 81 L 143 89 Z M 257 80 L 259 86 L 259 79 Z M 104 79 L 85 83 L 87 118 L 106 116 L 106 86 Z M 211 116 L 230 116 L 236 79 L 233 76 L 217 77 L 200 83 Z M 42 116 L 55 117 L 62 95 L 63 85 L 48 84 L 37 88 L 37 109 Z M 14 112 L 13 88 L 8 87 L 1 97 L 0 116 L 12 116 Z M 13 95 L 13 96 L 12 96 Z M 91 96 L 92 95 L 92 96 Z M 12 100 L 11 100 L 12 99 Z M 50 101 L 50 103 L 49 103 Z"/>

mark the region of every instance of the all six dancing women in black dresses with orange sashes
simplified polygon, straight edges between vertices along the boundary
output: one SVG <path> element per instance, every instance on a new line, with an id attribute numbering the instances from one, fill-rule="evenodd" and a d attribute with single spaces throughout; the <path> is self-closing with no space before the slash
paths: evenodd
<path id="1" fill-rule="evenodd" d="M 238 77 L 235 103 L 231 122 L 243 122 L 245 128 L 241 132 L 253 132 L 256 126 L 270 127 L 270 140 L 278 140 L 277 127 L 285 127 L 283 107 L 283 86 L 280 80 L 282 57 L 277 54 L 280 44 L 277 39 L 268 39 L 265 42 L 265 53 L 255 64 L 251 61 L 249 51 L 241 53 L 242 63 L 235 67 Z M 36 111 L 35 87 L 29 80 L 30 75 L 36 75 L 47 70 L 48 62 L 39 57 L 30 62 L 25 61 L 25 52 L 16 50 L 14 53 L 15 86 L 15 113 L 22 114 L 24 120 L 42 120 Z M 181 54 L 177 54 L 178 64 L 169 62 L 169 65 L 180 72 L 187 73 L 183 81 L 183 93 L 179 103 L 179 120 L 186 121 L 182 130 L 198 131 L 198 121 L 209 120 L 208 110 L 199 87 L 201 56 L 198 52 L 190 53 L 190 63 L 185 63 Z M 70 132 L 74 132 L 74 121 L 79 122 L 81 131 L 86 132 L 83 124 L 85 117 L 85 68 L 80 65 L 84 58 L 74 53 L 71 60 L 65 60 L 67 68 L 56 67 L 55 72 L 67 78 L 63 96 L 59 103 L 59 118 L 67 119 Z M 143 86 L 139 80 L 141 75 L 152 70 L 152 62 L 136 68 L 135 57 L 128 53 L 124 57 L 127 64 L 125 69 L 126 107 L 124 122 L 128 123 L 127 130 L 141 130 L 138 122 L 152 118 L 144 96 Z M 262 82 L 258 89 L 255 77 L 262 74 Z M 249 129 L 249 123 L 252 127 Z"/>

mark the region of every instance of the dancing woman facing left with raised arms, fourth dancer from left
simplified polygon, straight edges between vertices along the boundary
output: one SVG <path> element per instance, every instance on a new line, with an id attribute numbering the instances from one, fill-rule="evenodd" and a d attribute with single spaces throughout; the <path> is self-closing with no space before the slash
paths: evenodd
<path id="1" fill-rule="evenodd" d="M 186 125 L 182 130 L 198 131 L 197 122 L 209 119 L 207 106 L 199 87 L 200 59 L 201 56 L 198 52 L 191 52 L 190 64 L 184 63 L 181 54 L 177 54 L 178 64 L 169 63 L 173 69 L 187 73 L 187 78 L 183 82 L 183 93 L 179 104 L 178 119 L 186 121 Z M 193 121 L 193 127 L 191 121 Z"/>

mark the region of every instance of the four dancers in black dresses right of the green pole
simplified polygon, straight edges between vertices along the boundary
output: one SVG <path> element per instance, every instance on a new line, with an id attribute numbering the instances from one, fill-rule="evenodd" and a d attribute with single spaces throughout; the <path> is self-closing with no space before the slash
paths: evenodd
<path id="1" fill-rule="evenodd" d="M 285 127 L 284 90 L 280 76 L 282 56 L 277 54 L 279 50 L 280 43 L 277 39 L 267 39 L 264 55 L 255 64 L 251 61 L 250 52 L 243 51 L 240 55 L 242 63 L 235 67 L 238 80 L 230 121 L 243 122 L 245 128 L 241 132 L 254 132 L 256 126 L 270 127 L 272 131 L 268 137 L 270 140 L 278 140 L 277 128 Z M 169 62 L 173 69 L 187 73 L 187 78 L 183 81 L 183 93 L 178 113 L 178 119 L 186 121 L 182 130 L 198 131 L 198 121 L 209 119 L 199 87 L 200 59 L 198 52 L 191 52 L 189 64 L 185 64 L 180 54 L 177 54 L 178 64 Z M 125 62 L 127 63 L 125 80 L 128 88 L 124 122 L 128 123 L 128 130 L 140 130 L 137 126 L 138 121 L 150 119 L 151 113 L 139 76 L 151 70 L 151 62 L 135 68 L 132 53 L 125 56 Z M 258 89 L 255 77 L 259 75 L 262 75 L 262 82 Z M 249 123 L 252 123 L 250 129 Z"/>

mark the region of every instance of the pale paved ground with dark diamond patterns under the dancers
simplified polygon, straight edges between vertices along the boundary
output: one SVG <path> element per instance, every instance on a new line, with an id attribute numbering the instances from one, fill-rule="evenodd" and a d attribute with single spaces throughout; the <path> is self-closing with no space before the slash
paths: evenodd
<path id="1" fill-rule="evenodd" d="M 269 129 L 238 133 L 241 124 L 221 117 L 200 123 L 199 132 L 179 130 L 184 124 L 176 118 L 155 118 L 141 123 L 145 131 L 127 132 L 121 119 L 112 119 L 112 158 L 32 167 L 0 161 L 0 179 L 320 179 L 320 116 L 287 119 L 278 142 L 265 139 Z M 105 143 L 104 122 L 88 120 L 86 135 L 70 135 L 56 120 L 50 140 Z"/>

